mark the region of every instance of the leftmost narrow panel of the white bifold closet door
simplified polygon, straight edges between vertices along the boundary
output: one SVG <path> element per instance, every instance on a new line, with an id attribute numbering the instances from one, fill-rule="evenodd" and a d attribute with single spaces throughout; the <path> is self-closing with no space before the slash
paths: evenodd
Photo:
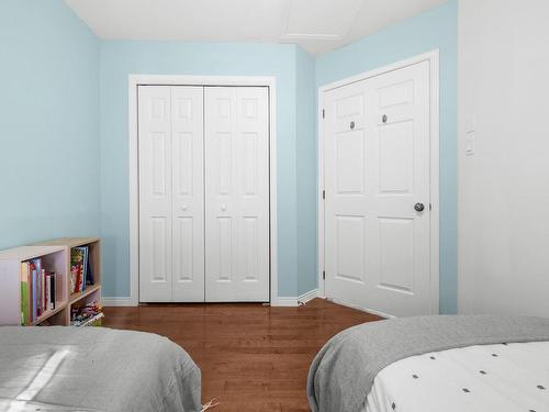
<path id="1" fill-rule="evenodd" d="M 171 301 L 171 97 L 138 88 L 139 301 Z"/>

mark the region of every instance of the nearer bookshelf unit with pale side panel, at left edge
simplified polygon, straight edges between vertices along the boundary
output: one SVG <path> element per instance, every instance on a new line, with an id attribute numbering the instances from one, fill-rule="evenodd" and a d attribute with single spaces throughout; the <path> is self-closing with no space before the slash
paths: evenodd
<path id="1" fill-rule="evenodd" d="M 67 248 L 64 246 L 22 246 L 0 252 L 0 325 L 21 324 L 21 264 L 41 258 L 56 274 L 55 309 L 47 310 L 32 325 L 44 322 L 66 325 L 68 310 Z"/>

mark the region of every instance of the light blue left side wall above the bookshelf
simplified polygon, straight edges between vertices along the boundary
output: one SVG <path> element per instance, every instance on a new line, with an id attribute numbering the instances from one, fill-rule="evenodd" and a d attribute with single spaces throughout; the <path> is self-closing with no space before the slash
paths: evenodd
<path id="1" fill-rule="evenodd" d="M 98 67 L 63 1 L 0 1 L 0 248 L 99 234 Z"/>

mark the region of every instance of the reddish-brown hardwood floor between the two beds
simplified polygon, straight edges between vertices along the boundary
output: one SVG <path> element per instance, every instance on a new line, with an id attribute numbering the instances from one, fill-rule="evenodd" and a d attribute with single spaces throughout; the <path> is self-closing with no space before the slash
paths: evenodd
<path id="1" fill-rule="evenodd" d="M 213 411 L 309 411 L 309 366 L 336 333 L 380 318 L 315 299 L 300 308 L 256 303 L 105 308 L 104 326 L 153 332 L 181 345 L 202 370 Z"/>

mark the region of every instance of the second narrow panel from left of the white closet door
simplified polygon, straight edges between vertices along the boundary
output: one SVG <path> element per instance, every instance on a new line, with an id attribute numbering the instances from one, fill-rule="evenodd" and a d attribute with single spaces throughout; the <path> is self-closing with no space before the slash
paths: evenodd
<path id="1" fill-rule="evenodd" d="M 203 87 L 171 91 L 172 301 L 204 301 Z"/>

